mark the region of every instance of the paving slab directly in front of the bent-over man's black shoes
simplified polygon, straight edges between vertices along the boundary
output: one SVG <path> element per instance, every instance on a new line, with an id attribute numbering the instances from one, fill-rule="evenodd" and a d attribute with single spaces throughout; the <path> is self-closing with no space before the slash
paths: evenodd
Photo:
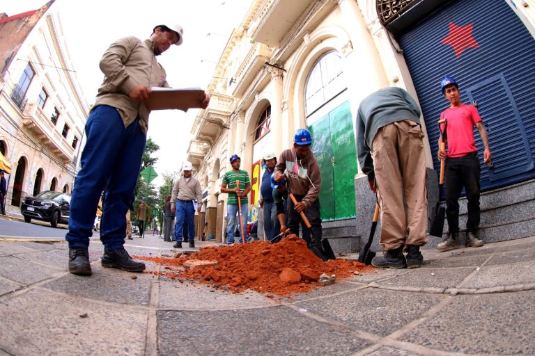
<path id="1" fill-rule="evenodd" d="M 421 288 L 454 288 L 475 268 L 417 268 L 389 280 L 376 282 L 380 286 L 412 286 Z"/>

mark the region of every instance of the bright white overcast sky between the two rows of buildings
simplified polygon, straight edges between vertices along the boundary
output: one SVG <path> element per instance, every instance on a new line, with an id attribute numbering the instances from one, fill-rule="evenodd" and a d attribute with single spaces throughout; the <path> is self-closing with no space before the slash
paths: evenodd
<path id="1" fill-rule="evenodd" d="M 4 0 L 0 13 L 8 16 L 36 10 L 46 0 Z M 56 0 L 68 51 L 88 104 L 93 104 L 103 74 L 98 62 L 109 44 L 125 36 L 149 38 L 159 24 L 180 24 L 184 42 L 171 46 L 158 61 L 174 88 L 206 89 L 219 57 L 234 28 L 240 26 L 251 0 Z M 198 109 L 153 111 L 148 137 L 160 146 L 155 154 L 159 174 L 153 184 L 163 183 L 162 173 L 178 172 L 187 156 L 191 128 Z"/>

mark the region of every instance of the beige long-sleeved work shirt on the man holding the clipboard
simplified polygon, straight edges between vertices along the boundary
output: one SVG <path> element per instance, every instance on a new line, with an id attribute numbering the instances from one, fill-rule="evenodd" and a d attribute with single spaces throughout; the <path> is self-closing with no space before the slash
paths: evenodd
<path id="1" fill-rule="evenodd" d="M 123 118 L 125 128 L 132 124 L 139 114 L 139 125 L 144 133 L 148 130 L 150 111 L 143 102 L 130 99 L 128 94 L 139 85 L 169 88 L 164 67 L 157 62 L 154 55 L 154 46 L 150 38 L 142 41 L 132 36 L 111 44 L 100 59 L 104 81 L 98 88 L 93 105 L 93 108 L 98 105 L 116 108 Z"/>

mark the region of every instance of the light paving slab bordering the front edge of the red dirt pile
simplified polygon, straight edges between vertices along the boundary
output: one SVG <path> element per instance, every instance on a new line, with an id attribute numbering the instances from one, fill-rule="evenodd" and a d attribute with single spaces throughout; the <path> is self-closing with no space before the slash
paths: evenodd
<path id="1" fill-rule="evenodd" d="M 208 284 L 160 281 L 160 307 L 185 310 L 221 310 L 272 307 L 277 302 L 255 291 L 233 294 Z"/>

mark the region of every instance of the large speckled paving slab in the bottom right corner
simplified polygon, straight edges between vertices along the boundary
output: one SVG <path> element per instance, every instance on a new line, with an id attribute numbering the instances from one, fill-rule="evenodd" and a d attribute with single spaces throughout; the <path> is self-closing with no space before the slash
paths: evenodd
<path id="1" fill-rule="evenodd" d="M 535 294 L 456 296 L 401 341 L 478 355 L 535 355 Z M 531 341 L 529 341 L 531 340 Z"/>

